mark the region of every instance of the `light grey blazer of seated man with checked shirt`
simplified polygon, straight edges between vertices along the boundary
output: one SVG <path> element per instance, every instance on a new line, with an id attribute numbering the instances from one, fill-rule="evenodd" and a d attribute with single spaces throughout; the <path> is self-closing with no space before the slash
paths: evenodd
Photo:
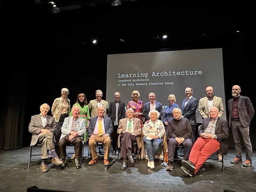
<path id="1" fill-rule="evenodd" d="M 71 131 L 72 120 L 73 120 L 73 116 L 66 117 L 64 119 L 63 125 L 61 127 L 60 140 L 66 135 L 69 135 L 69 132 Z M 83 137 L 84 133 L 86 132 L 85 121 L 84 119 L 78 117 L 76 123 L 77 123 L 77 132 L 79 134 L 78 136 Z M 83 140 L 83 138 L 81 139 Z"/>

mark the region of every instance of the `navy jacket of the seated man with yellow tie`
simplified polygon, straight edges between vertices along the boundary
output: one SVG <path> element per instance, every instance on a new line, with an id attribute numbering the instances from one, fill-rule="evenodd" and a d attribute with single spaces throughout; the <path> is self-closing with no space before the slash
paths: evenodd
<path id="1" fill-rule="evenodd" d="M 93 135 L 93 131 L 95 129 L 97 119 L 98 119 L 98 116 L 92 117 L 90 119 L 90 124 L 89 124 L 89 127 L 87 128 L 89 136 Z M 111 119 L 109 117 L 103 117 L 103 121 L 104 121 L 105 133 L 107 133 L 110 136 L 113 131 Z"/>

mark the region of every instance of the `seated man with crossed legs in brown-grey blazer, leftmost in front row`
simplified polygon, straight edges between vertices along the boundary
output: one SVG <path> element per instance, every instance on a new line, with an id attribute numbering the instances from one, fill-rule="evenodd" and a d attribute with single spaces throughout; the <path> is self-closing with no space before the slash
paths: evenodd
<path id="1" fill-rule="evenodd" d="M 42 144 L 42 162 L 40 165 L 41 172 L 47 172 L 46 160 L 48 159 L 48 150 L 52 153 L 52 163 L 59 165 L 63 162 L 57 156 L 54 149 L 54 133 L 56 132 L 55 121 L 52 116 L 47 115 L 50 106 L 44 103 L 40 106 L 41 113 L 31 116 L 28 131 L 32 133 L 30 146 Z"/>

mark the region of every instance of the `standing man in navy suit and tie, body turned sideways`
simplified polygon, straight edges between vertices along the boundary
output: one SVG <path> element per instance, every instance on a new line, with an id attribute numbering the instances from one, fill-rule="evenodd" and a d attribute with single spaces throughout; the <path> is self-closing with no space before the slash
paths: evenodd
<path id="1" fill-rule="evenodd" d="M 192 96 L 193 90 L 190 87 L 186 87 L 185 95 L 186 99 L 183 100 L 181 105 L 182 116 L 189 120 L 193 137 L 193 143 L 196 141 L 196 108 L 197 108 L 197 99 Z"/>

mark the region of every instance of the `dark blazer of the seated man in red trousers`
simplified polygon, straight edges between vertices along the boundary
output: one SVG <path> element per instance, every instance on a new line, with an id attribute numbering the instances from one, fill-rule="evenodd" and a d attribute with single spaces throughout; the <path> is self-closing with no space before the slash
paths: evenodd
<path id="1" fill-rule="evenodd" d="M 209 122 L 210 122 L 209 117 L 206 117 L 203 119 L 202 125 L 199 126 L 198 136 L 201 133 L 204 133 Z M 217 140 L 220 142 L 220 151 L 223 155 L 227 155 L 227 152 L 228 152 L 228 144 L 226 141 L 226 139 L 228 138 L 228 135 L 229 135 L 228 131 L 229 131 L 228 121 L 218 117 L 218 120 L 217 120 L 216 126 L 215 126 L 215 135 L 217 136 Z"/>

